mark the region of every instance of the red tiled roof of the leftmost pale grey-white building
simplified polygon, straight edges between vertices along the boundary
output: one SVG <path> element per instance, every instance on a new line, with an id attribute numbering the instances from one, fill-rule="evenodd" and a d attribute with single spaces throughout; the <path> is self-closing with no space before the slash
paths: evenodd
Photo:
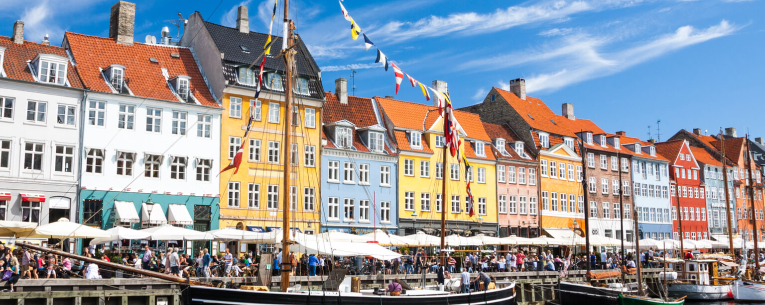
<path id="1" fill-rule="evenodd" d="M 5 69 L 8 79 L 34 82 L 27 61 L 37 57 L 37 54 L 52 54 L 68 58 L 66 50 L 62 47 L 27 40 L 24 40 L 23 44 L 18 44 L 14 43 L 11 37 L 5 36 L 0 36 L 0 47 L 5 47 L 2 68 Z M 72 66 L 72 63 L 69 63 L 67 67 L 67 80 L 73 88 L 84 88 L 80 78 L 77 77 L 77 69 Z"/>

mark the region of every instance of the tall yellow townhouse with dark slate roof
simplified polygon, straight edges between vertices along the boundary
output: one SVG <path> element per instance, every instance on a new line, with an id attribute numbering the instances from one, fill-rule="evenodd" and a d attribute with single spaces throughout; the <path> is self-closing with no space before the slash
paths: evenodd
<path id="1" fill-rule="evenodd" d="M 246 6 L 239 7 L 236 27 L 203 21 L 191 14 L 181 45 L 192 47 L 213 95 L 222 101 L 219 172 L 244 144 L 239 172 L 220 174 L 220 227 L 257 232 L 282 227 L 283 196 L 288 191 L 291 228 L 313 234 L 321 226 L 321 71 L 299 35 L 295 36 L 293 107 L 285 109 L 282 37 L 273 37 L 266 55 L 265 86 L 256 94 L 259 63 L 268 34 L 249 30 Z M 291 114 L 291 147 L 285 141 L 285 115 Z M 252 131 L 243 138 L 249 117 Z M 291 188 L 285 190 L 284 158 L 292 166 Z"/>

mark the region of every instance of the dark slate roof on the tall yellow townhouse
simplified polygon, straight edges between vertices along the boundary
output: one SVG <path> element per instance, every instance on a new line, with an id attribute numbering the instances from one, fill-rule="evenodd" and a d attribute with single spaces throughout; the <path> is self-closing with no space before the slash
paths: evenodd
<path id="1" fill-rule="evenodd" d="M 258 59 L 260 54 L 262 54 L 265 41 L 268 40 L 268 34 L 252 31 L 241 33 L 234 27 L 224 27 L 223 25 L 213 24 L 208 21 L 204 21 L 204 26 L 210 32 L 210 36 L 213 37 L 213 42 L 218 47 L 218 50 L 223 53 L 223 76 L 226 77 L 229 84 L 236 84 L 236 67 L 252 65 L 254 69 L 257 69 L 259 66 Z M 281 57 L 275 58 L 282 47 L 282 37 L 273 36 L 272 40 L 271 54 L 265 58 L 265 70 L 284 72 L 284 60 Z M 297 51 L 295 62 L 298 74 L 309 79 L 308 92 L 311 98 L 324 99 L 324 88 L 321 85 L 321 77 L 319 76 L 321 70 L 319 66 L 317 66 L 311 53 L 308 52 L 308 48 L 305 47 L 303 40 L 297 34 L 295 34 L 295 43 L 297 44 L 295 47 Z M 243 50 L 243 47 L 247 51 Z M 255 88 L 255 86 L 237 85 Z M 268 92 L 269 88 L 264 88 L 263 91 Z M 283 90 L 274 90 L 274 92 L 283 92 Z"/>

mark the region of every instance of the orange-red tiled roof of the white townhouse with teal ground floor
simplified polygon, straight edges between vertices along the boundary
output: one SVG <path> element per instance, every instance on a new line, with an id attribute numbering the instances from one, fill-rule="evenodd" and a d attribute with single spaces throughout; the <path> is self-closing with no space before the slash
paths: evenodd
<path id="1" fill-rule="evenodd" d="M 191 78 L 191 93 L 200 104 L 221 107 L 213 99 L 191 50 L 186 47 L 172 47 L 133 43 L 132 46 L 118 44 L 106 37 L 67 32 L 68 43 L 77 63 L 78 72 L 86 87 L 98 92 L 112 92 L 101 75 L 99 68 L 106 69 L 114 64 L 125 66 L 125 82 L 135 96 L 155 98 L 164 101 L 181 101 L 173 95 L 168 82 L 162 75 L 162 68 L 168 70 L 169 78 L 187 75 Z M 171 56 L 177 53 L 180 57 Z M 152 63 L 149 59 L 157 59 Z"/>

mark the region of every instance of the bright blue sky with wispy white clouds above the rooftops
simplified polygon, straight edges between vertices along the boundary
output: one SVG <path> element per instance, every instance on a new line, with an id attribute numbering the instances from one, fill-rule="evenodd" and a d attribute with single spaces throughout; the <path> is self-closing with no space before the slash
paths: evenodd
<path id="1" fill-rule="evenodd" d="M 25 38 L 44 34 L 60 44 L 63 31 L 107 36 L 114 1 L 5 0 L 0 35 L 26 22 Z M 250 8 L 250 29 L 267 32 L 271 1 L 138 1 L 135 37 L 159 36 L 164 22 L 200 11 L 233 26 L 236 7 Z M 282 5 L 282 0 L 279 0 Z M 604 130 L 661 139 L 698 127 L 747 128 L 765 136 L 765 26 L 761 0 L 579 0 L 343 2 L 371 40 L 404 72 L 449 84 L 457 107 L 479 102 L 509 79 L 526 79 L 529 95 L 553 111 L 573 103 L 577 117 Z M 280 13 L 282 8 L 278 10 Z M 374 47 L 351 40 L 350 24 L 334 0 L 291 2 L 291 17 L 322 67 L 324 88 L 356 69 L 356 95 L 393 95 L 392 69 L 374 64 Z M 278 14 L 276 21 L 280 21 Z M 275 33 L 281 27 L 275 24 Z M 425 103 L 402 82 L 397 98 Z"/>

